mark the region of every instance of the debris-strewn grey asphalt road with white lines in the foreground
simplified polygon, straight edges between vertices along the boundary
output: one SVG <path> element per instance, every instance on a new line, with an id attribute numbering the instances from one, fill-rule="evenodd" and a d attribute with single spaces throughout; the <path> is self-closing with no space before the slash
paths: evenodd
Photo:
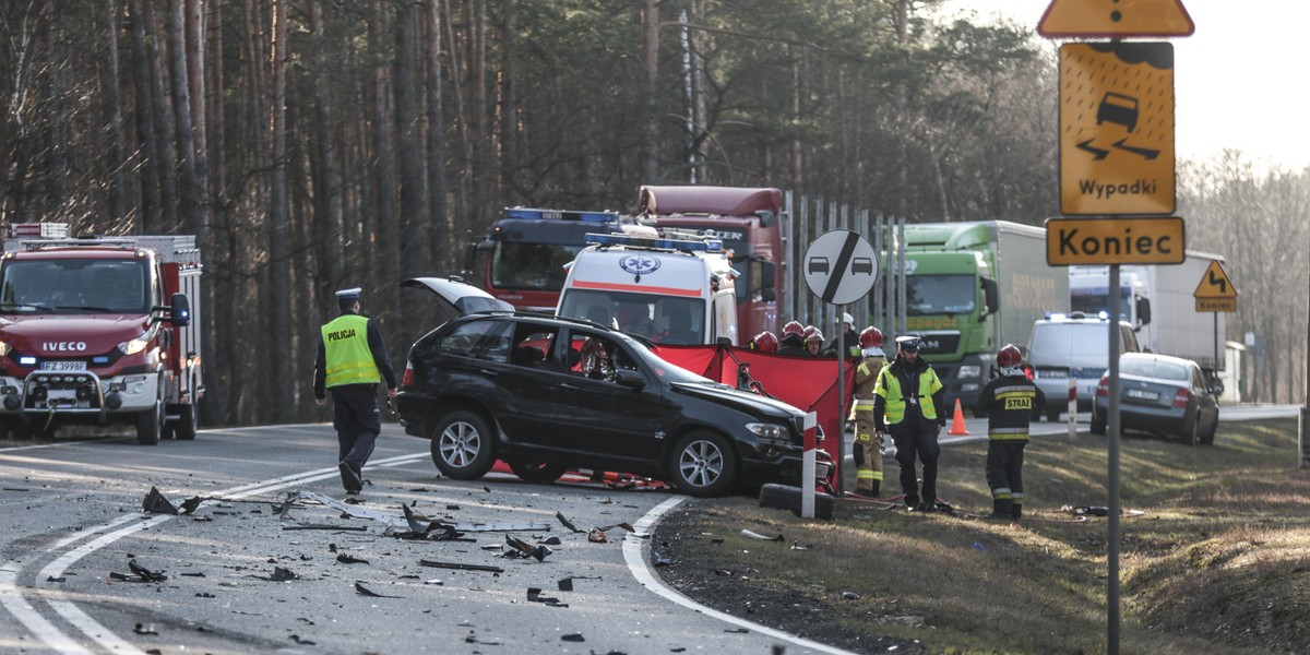
<path id="1" fill-rule="evenodd" d="M 444 479 L 427 441 L 386 426 L 364 503 L 346 506 L 335 449 L 313 424 L 0 451 L 0 651 L 841 652 L 664 588 L 646 531 L 681 498 L 668 490 Z M 147 514 L 151 487 L 173 506 L 204 500 Z M 328 504 L 279 511 L 304 493 Z M 462 540 L 401 538 L 402 504 Z M 504 557 L 521 554 L 511 537 L 528 554 Z"/>

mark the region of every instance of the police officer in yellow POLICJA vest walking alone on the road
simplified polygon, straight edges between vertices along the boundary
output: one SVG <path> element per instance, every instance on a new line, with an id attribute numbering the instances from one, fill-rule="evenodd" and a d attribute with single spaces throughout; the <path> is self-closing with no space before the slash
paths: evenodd
<path id="1" fill-rule="evenodd" d="M 322 326 L 314 358 L 314 402 L 326 405 L 331 392 L 333 427 L 339 444 L 338 469 L 347 494 L 363 490 L 363 469 L 373 455 L 383 431 L 377 409 L 377 383 L 386 381 L 386 393 L 396 397 L 396 372 L 386 358 L 383 333 L 360 316 L 360 288 L 337 292 L 341 316 Z"/>

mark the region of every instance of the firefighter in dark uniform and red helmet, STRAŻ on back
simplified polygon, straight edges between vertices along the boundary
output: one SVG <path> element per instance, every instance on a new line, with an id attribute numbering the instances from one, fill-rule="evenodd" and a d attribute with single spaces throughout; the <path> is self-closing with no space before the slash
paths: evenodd
<path id="1" fill-rule="evenodd" d="M 973 411 L 986 413 L 986 483 L 992 489 L 996 520 L 1023 517 L 1023 447 L 1028 444 L 1032 407 L 1045 406 L 1047 397 L 1023 375 L 1023 355 L 1011 343 L 996 354 L 1001 376 L 979 393 Z"/>

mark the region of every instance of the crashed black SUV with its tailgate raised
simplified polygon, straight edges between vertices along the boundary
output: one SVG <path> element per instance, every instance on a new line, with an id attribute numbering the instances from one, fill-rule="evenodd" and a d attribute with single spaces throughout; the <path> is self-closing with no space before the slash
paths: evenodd
<path id="1" fill-rule="evenodd" d="M 713 496 L 800 482 L 804 414 L 659 359 L 605 326 L 515 313 L 457 279 L 415 278 L 461 314 L 409 352 L 397 411 L 443 474 L 496 460 L 552 482 L 570 469 L 648 476 Z M 827 479 L 829 461 L 817 462 Z"/>

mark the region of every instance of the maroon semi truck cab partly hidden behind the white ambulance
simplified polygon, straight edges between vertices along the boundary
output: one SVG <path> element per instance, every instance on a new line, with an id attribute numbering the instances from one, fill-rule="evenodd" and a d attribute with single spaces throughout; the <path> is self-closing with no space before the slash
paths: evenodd
<path id="1" fill-rule="evenodd" d="M 734 186 L 642 186 L 639 219 L 665 236 L 669 228 L 713 237 L 732 253 L 741 342 L 778 333 L 783 300 L 782 191 Z"/>

